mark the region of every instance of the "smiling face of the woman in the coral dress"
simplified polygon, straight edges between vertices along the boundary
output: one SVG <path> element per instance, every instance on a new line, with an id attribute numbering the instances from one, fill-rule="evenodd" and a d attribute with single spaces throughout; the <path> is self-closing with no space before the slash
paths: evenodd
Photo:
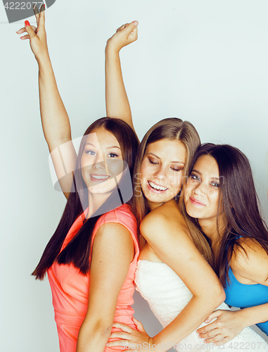
<path id="1" fill-rule="evenodd" d="M 124 161 L 120 144 L 103 127 L 87 136 L 81 156 L 81 172 L 91 194 L 107 194 L 115 189 L 114 178 L 120 181 Z"/>

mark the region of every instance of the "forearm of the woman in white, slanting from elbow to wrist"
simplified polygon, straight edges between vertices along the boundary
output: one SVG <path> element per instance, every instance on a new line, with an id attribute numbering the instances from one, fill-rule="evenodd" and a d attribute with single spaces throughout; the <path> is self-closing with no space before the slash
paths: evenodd
<path id="1" fill-rule="evenodd" d="M 194 332 L 222 301 L 221 298 L 204 299 L 193 296 L 177 318 L 153 337 L 153 344 L 159 344 L 160 351 L 167 351 L 174 344 L 179 344 L 179 341 Z"/>

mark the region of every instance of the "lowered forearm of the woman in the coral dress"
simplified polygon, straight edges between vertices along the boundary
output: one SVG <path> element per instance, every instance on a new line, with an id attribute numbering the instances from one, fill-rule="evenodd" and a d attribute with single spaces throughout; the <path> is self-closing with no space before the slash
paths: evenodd
<path id="1" fill-rule="evenodd" d="M 79 329 L 77 352 L 103 352 L 112 331 L 112 323 L 105 325 L 102 322 L 84 320 Z"/>

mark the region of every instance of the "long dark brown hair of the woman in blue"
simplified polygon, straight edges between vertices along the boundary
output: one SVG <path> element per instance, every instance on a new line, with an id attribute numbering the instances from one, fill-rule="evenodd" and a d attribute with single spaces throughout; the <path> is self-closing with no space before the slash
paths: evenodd
<path id="1" fill-rule="evenodd" d="M 221 241 L 215 254 L 214 269 L 220 282 L 226 287 L 231 256 L 238 249 L 245 251 L 239 238 L 257 241 L 268 254 L 268 230 L 260 215 L 259 200 L 248 158 L 234 146 L 206 143 L 198 149 L 191 169 L 203 155 L 212 156 L 219 168 L 217 224 L 221 212 L 224 216 L 224 230 L 219 233 Z M 192 230 L 203 234 L 198 219 L 189 215 L 187 217 L 195 225 Z M 250 241 L 248 244 L 250 245 Z"/>

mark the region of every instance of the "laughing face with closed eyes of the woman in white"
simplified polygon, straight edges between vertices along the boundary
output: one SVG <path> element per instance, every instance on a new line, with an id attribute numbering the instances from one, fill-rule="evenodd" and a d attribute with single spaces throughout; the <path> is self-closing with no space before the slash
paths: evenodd
<path id="1" fill-rule="evenodd" d="M 186 147 L 177 139 L 161 139 L 147 146 L 141 163 L 141 189 L 151 210 L 181 190 Z"/>

